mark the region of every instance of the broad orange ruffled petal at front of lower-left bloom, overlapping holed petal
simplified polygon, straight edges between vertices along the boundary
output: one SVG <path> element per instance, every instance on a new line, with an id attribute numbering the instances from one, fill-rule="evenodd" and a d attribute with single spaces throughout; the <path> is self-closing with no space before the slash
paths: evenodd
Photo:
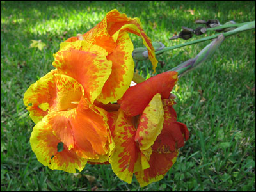
<path id="1" fill-rule="evenodd" d="M 82 98 L 77 108 L 49 113 L 45 121 L 68 150 L 73 148 L 78 156 L 86 159 L 108 160 L 103 156 L 108 156 L 114 146 L 110 146 L 107 117 L 86 99 Z"/>

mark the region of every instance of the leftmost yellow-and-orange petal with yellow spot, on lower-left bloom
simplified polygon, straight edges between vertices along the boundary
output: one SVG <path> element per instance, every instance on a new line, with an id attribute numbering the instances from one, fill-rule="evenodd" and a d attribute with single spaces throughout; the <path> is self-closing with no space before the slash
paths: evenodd
<path id="1" fill-rule="evenodd" d="M 39 122 L 49 113 L 49 109 L 56 106 L 56 84 L 54 74 L 57 70 L 51 70 L 36 83 L 31 84 L 24 94 L 24 105 L 27 106 L 29 116 L 35 122 Z"/>

